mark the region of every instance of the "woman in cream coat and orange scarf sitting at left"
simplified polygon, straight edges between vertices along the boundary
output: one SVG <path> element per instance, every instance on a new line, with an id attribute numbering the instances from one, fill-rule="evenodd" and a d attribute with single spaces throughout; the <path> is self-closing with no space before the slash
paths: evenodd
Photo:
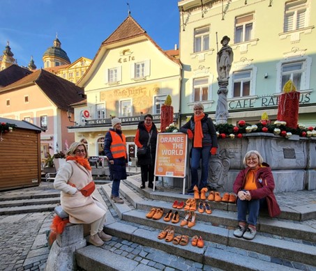
<path id="1" fill-rule="evenodd" d="M 93 194 L 84 196 L 80 190 L 92 182 L 91 167 L 87 160 L 86 146 L 74 142 L 67 150 L 66 163 L 54 180 L 54 187 L 61 190 L 61 207 L 73 224 L 90 224 L 89 242 L 100 247 L 112 236 L 103 232 L 106 208 Z"/>

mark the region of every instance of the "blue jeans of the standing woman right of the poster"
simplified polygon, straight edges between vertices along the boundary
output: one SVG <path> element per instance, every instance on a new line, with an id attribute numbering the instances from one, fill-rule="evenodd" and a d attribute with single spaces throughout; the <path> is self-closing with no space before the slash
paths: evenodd
<path id="1" fill-rule="evenodd" d="M 209 176 L 209 157 L 211 145 L 204 146 L 202 148 L 192 148 L 191 149 L 191 188 L 193 188 L 198 183 L 199 176 L 197 174 L 197 169 L 200 164 L 200 159 L 202 159 L 202 172 L 200 185 L 197 185 L 199 189 L 206 187 L 207 177 Z"/>

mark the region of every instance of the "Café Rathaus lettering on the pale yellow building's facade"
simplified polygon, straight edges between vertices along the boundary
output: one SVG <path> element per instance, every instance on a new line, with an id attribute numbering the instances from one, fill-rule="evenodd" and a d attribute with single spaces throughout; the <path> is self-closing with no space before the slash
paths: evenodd
<path id="1" fill-rule="evenodd" d="M 255 106 L 255 103 L 259 102 L 259 106 Z M 300 104 L 306 104 L 310 102 L 310 93 L 301 93 Z M 278 106 L 278 96 L 260 96 L 258 98 L 244 99 L 244 100 L 231 100 L 228 102 L 230 110 L 233 109 L 244 109 L 254 107 L 274 107 Z"/>

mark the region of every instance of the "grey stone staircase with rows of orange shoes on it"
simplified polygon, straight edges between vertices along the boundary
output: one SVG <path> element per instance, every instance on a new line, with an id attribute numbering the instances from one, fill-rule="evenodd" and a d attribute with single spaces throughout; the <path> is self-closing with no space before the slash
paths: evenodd
<path id="1" fill-rule="evenodd" d="M 76 251 L 82 270 L 316 270 L 315 208 L 294 210 L 283 206 L 282 215 L 270 219 L 262 213 L 254 240 L 235 238 L 236 206 L 209 202 L 211 215 L 196 213 L 193 228 L 181 227 L 185 212 L 178 210 L 180 222 L 172 224 L 147 219 L 151 208 L 163 208 L 164 215 L 172 203 L 193 197 L 181 189 L 160 187 L 156 192 L 140 189 L 140 176 L 129 176 L 121 182 L 124 204 L 112 204 L 110 185 L 99 192 L 109 207 L 105 232 L 114 236 L 103 247 L 88 246 Z M 290 199 L 289 199 L 290 200 Z M 175 234 L 202 236 L 204 247 L 173 245 L 158 240 L 165 226 L 172 225 Z M 191 269 L 193 268 L 193 269 Z"/>

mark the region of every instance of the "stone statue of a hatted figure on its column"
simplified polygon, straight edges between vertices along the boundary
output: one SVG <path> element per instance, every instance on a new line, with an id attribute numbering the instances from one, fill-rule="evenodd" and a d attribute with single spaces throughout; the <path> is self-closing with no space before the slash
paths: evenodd
<path id="1" fill-rule="evenodd" d="M 230 116 L 227 107 L 227 93 L 228 93 L 228 79 L 230 78 L 230 68 L 232 67 L 232 61 L 234 59 L 234 52 L 232 47 L 228 45 L 230 38 L 224 36 L 220 40 L 220 44 L 223 45 L 220 51 L 217 53 L 217 72 L 218 72 L 218 86 L 220 87 L 218 93 L 218 103 L 216 107 L 216 124 L 227 123 L 227 118 Z"/>

